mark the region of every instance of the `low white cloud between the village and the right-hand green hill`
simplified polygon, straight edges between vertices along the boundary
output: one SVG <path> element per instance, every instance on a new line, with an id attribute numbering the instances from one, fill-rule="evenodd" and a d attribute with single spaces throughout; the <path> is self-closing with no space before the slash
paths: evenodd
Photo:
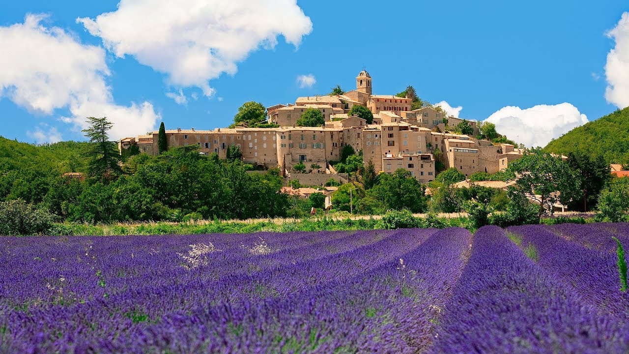
<path id="1" fill-rule="evenodd" d="M 524 110 L 506 106 L 490 115 L 486 122 L 496 124 L 500 134 L 520 144 L 543 147 L 551 139 L 587 123 L 587 117 L 570 103 L 560 103 L 537 105 Z"/>

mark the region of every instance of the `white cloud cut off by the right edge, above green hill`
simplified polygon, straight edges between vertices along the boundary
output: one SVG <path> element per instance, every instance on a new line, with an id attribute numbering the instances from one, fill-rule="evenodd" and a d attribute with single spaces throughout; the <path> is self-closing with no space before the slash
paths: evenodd
<path id="1" fill-rule="evenodd" d="M 623 13 L 607 36 L 616 41 L 616 47 L 607 54 L 605 98 L 619 108 L 629 106 L 629 12 Z"/>

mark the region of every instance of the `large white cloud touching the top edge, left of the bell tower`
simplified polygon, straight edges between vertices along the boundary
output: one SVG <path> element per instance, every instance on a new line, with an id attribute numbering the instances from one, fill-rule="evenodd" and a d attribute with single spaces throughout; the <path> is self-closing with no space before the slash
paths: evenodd
<path id="1" fill-rule="evenodd" d="M 279 35 L 297 46 L 312 31 L 296 0 L 121 0 L 116 11 L 77 21 L 118 57 L 132 55 L 206 96 L 209 80 L 235 74 L 254 50 L 272 49 Z"/>

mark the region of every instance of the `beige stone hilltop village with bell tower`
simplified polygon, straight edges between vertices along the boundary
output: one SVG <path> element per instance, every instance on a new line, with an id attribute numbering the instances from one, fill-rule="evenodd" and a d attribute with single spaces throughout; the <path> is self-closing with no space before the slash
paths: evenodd
<path id="1" fill-rule="evenodd" d="M 367 122 L 350 115 L 353 106 L 364 106 L 373 115 Z M 343 147 L 362 151 L 364 163 L 371 160 L 376 171 L 393 173 L 406 169 L 421 183 L 434 180 L 441 169 L 456 168 L 465 176 L 482 171 L 496 173 L 519 159 L 523 150 L 512 144 L 494 144 L 477 139 L 477 123 L 448 116 L 438 107 L 411 110 L 412 100 L 392 94 L 372 94 L 372 77 L 363 70 L 356 89 L 343 94 L 299 97 L 288 105 L 267 108 L 272 128 L 236 126 L 214 130 L 166 130 L 169 147 L 198 145 L 204 154 L 225 158 L 228 147 L 238 146 L 244 163 L 280 168 L 286 176 L 294 166 L 313 166 L 310 173 L 335 174 L 331 162 L 339 161 Z M 325 123 L 299 127 L 298 120 L 309 108 L 321 112 Z M 467 122 L 472 134 L 453 134 L 448 127 Z M 135 144 L 140 152 L 157 155 L 159 132 L 128 137 L 119 149 Z M 440 164 L 440 166 L 438 166 Z M 440 167 L 440 168 L 438 168 Z"/>

